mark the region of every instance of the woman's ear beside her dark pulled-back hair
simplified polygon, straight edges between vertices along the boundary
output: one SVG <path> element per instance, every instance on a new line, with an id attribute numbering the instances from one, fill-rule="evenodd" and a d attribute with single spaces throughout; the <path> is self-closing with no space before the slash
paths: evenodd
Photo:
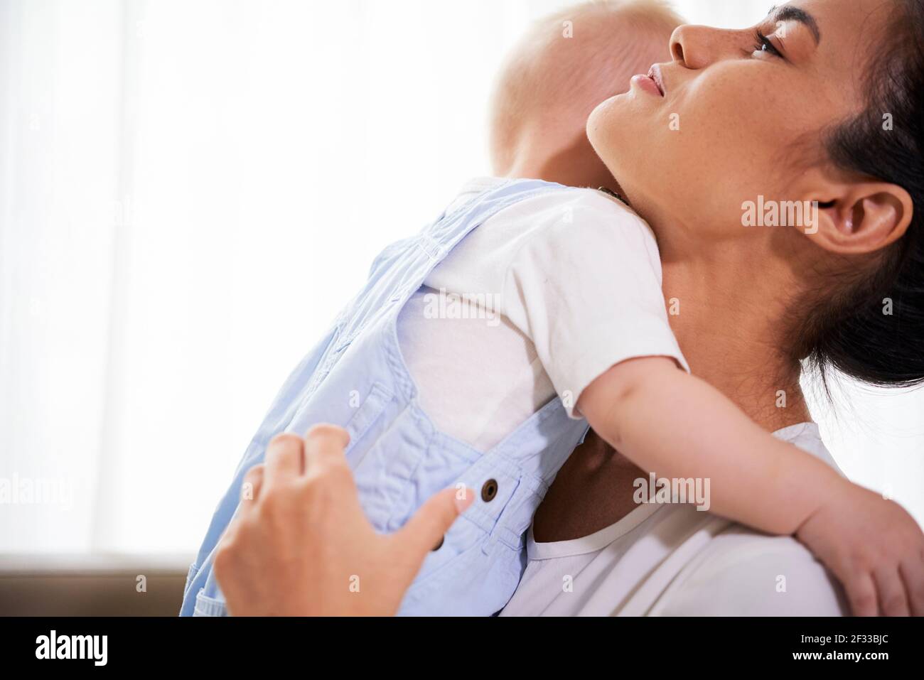
<path id="1" fill-rule="evenodd" d="M 839 195 L 819 201 L 814 232 L 805 230 L 825 250 L 845 255 L 875 252 L 905 236 L 911 224 L 914 203 L 897 185 L 851 183 L 833 193 Z"/>

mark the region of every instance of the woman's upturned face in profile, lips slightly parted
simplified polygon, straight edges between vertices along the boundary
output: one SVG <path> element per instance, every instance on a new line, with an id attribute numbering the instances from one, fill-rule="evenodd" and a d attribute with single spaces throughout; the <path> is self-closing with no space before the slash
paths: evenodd
<path id="1" fill-rule="evenodd" d="M 863 109 L 893 5 L 796 0 L 752 29 L 680 27 L 658 86 L 636 78 L 598 106 L 590 142 L 638 212 L 700 236 L 731 236 L 761 196 L 827 202 L 821 132 Z"/>

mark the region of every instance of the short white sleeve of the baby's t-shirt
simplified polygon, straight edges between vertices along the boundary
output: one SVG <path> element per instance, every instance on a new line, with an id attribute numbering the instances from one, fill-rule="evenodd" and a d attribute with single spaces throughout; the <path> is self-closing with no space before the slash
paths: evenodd
<path id="1" fill-rule="evenodd" d="M 582 190 L 536 216 L 505 269 L 505 314 L 536 346 L 568 415 L 597 377 L 629 358 L 688 370 L 668 322 L 660 255 L 637 214 Z"/>

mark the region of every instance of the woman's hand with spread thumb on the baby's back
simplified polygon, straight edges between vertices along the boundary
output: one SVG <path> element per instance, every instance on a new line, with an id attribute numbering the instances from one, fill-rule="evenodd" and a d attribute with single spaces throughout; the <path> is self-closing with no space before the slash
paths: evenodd
<path id="1" fill-rule="evenodd" d="M 249 471 L 215 577 L 236 616 L 391 615 L 427 553 L 474 499 L 434 495 L 407 525 L 378 534 L 359 506 L 344 451 L 349 437 L 317 425 L 274 438 Z"/>

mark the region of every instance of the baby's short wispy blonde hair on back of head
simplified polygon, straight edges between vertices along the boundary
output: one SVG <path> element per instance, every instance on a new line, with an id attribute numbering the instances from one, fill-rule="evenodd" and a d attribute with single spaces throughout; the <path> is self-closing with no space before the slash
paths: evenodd
<path id="1" fill-rule="evenodd" d="M 663 0 L 596 0 L 539 19 L 517 43 L 494 88 L 492 161 L 504 174 L 527 123 L 577 134 L 597 104 L 670 58 L 683 19 Z"/>

